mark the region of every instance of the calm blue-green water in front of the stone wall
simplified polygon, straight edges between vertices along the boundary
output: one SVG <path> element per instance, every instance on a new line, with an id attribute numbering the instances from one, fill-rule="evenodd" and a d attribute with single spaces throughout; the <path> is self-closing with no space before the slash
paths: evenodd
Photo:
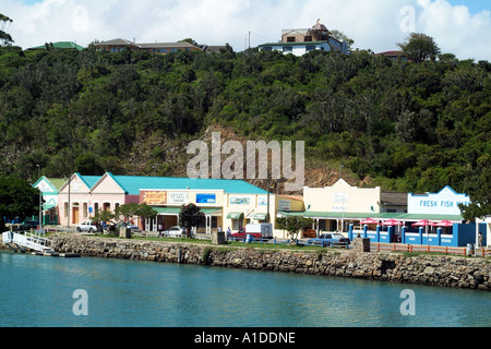
<path id="1" fill-rule="evenodd" d="M 491 326 L 490 292 L 272 272 L 0 252 L 0 282 L 2 327 Z"/>

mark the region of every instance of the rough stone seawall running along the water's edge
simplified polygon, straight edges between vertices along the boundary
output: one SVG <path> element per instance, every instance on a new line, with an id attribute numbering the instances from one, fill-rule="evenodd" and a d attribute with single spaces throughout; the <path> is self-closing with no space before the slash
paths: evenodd
<path id="1" fill-rule="evenodd" d="M 355 253 L 346 250 L 316 253 L 81 236 L 60 236 L 52 241 L 57 252 L 81 253 L 82 256 L 491 290 L 491 263 L 482 258 L 426 254 L 405 256 L 402 253 Z"/>

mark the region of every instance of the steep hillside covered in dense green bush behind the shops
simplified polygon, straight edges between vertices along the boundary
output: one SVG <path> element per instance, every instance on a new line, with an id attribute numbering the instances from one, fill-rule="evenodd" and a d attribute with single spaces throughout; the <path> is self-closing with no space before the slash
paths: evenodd
<path id="1" fill-rule="evenodd" d="M 0 171 L 187 176 L 185 146 L 219 131 L 304 141 L 310 186 L 334 183 L 343 164 L 351 184 L 489 196 L 490 72 L 452 55 L 0 48 Z"/>

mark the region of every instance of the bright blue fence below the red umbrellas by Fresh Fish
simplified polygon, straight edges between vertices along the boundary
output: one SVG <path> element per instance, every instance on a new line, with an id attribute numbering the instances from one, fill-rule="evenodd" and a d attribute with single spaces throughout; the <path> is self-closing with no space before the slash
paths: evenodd
<path id="1" fill-rule="evenodd" d="M 487 245 L 486 224 L 479 225 L 479 231 L 482 234 L 482 245 Z M 355 232 L 354 226 L 349 227 L 348 237 L 352 241 L 357 236 L 360 238 L 370 239 L 371 242 L 402 242 L 408 244 L 429 244 L 434 246 L 466 246 L 468 243 L 476 243 L 476 224 L 454 224 L 447 231 L 442 228 L 436 229 L 436 233 L 427 233 L 423 227 L 417 231 L 402 228 L 402 234 L 395 233 L 394 227 L 388 227 L 387 230 L 382 230 L 381 226 L 376 230 L 368 230 L 368 226 L 363 227 L 362 232 Z"/>

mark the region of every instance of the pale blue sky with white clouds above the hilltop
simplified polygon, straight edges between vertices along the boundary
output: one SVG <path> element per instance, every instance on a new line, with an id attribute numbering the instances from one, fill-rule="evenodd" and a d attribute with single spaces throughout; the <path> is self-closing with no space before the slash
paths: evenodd
<path id="1" fill-rule="evenodd" d="M 433 37 L 442 53 L 491 61 L 489 0 L 2 0 L 0 12 L 13 21 L 3 31 L 23 49 L 192 38 L 242 51 L 320 20 L 354 39 L 354 49 L 395 50 L 414 32 Z"/>

